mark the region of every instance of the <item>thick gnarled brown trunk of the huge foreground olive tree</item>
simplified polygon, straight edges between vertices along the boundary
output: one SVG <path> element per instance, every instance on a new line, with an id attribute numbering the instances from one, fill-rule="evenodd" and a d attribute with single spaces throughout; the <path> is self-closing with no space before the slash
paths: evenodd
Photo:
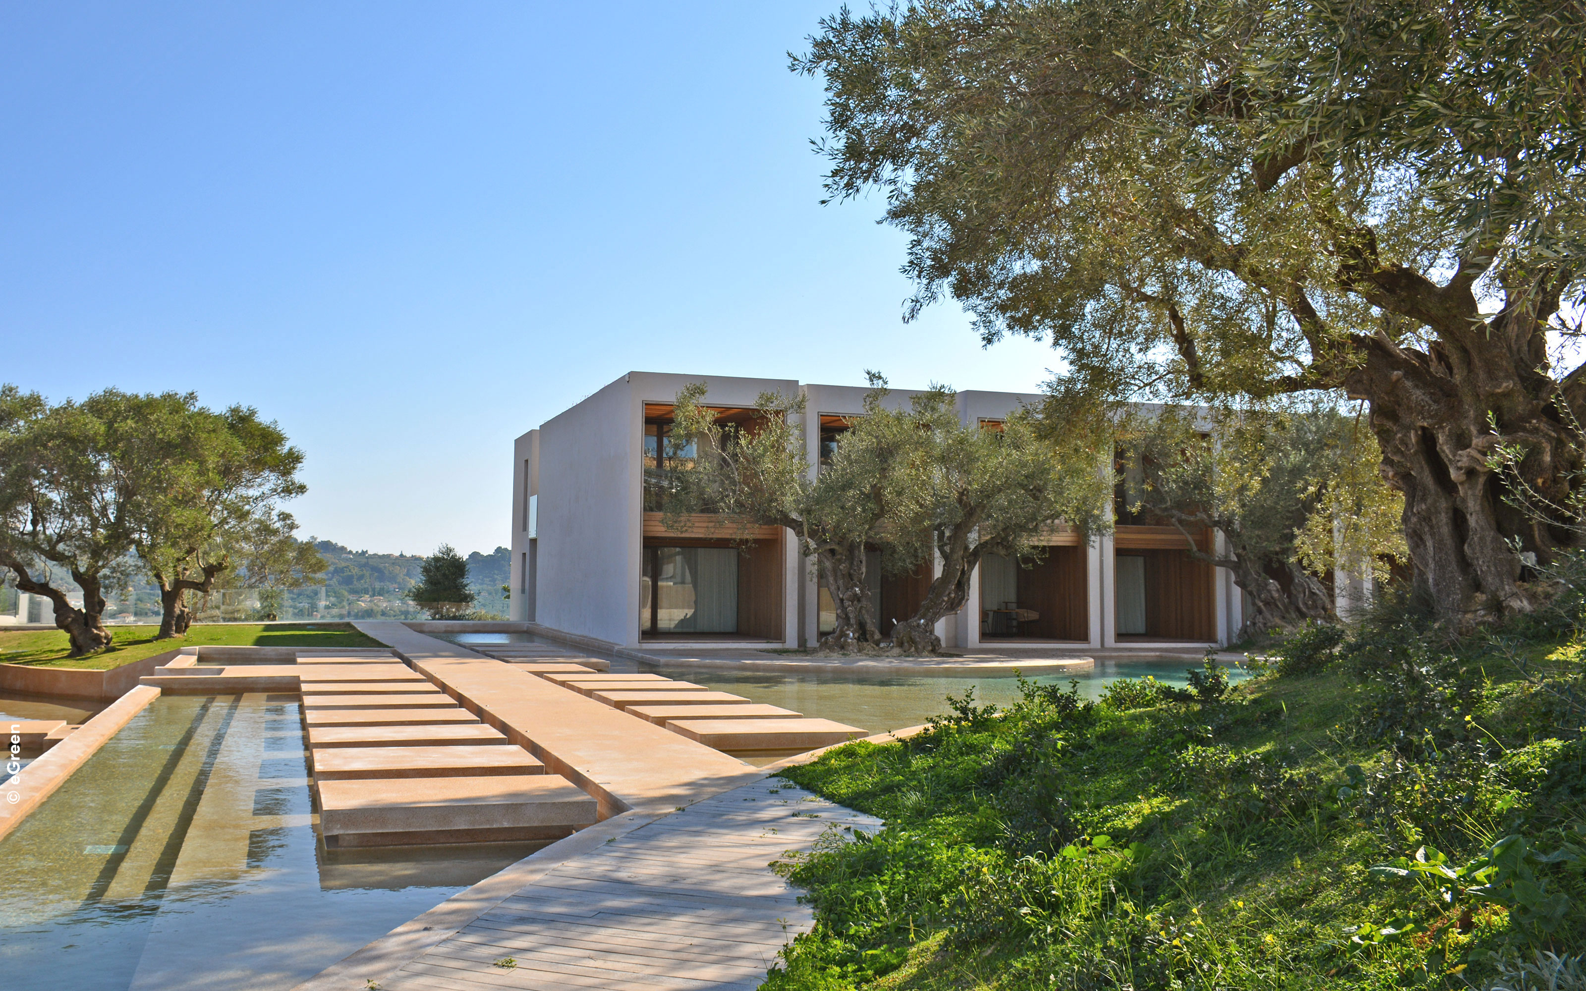
<path id="1" fill-rule="evenodd" d="M 1416 590 L 1461 631 L 1530 612 L 1537 599 L 1519 555 L 1546 561 L 1570 534 L 1511 504 L 1489 457 L 1499 444 L 1524 446 L 1524 482 L 1569 503 L 1581 450 L 1564 404 L 1581 409 L 1586 396 L 1580 369 L 1562 382 L 1545 371 L 1546 319 L 1564 281 L 1518 287 L 1500 312 L 1483 317 L 1473 274 L 1440 287 L 1400 266 L 1356 270 L 1353 289 L 1367 301 L 1437 335 L 1424 350 L 1386 335 L 1356 338 L 1364 360 L 1343 374 L 1350 395 L 1370 403 L 1383 479 L 1404 493 Z"/>

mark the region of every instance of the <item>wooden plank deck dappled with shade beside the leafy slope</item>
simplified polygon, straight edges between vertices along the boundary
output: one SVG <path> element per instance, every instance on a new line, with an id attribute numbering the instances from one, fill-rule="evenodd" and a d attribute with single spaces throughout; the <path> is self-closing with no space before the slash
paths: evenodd
<path id="1" fill-rule="evenodd" d="M 379 988 L 757 988 L 812 924 L 771 861 L 853 828 L 880 821 L 782 779 L 734 788 L 557 864 Z"/>

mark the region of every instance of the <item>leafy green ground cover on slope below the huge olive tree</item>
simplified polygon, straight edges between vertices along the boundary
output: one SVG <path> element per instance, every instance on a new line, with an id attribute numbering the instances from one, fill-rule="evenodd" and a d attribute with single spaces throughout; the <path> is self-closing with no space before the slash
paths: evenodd
<path id="1" fill-rule="evenodd" d="M 817 926 L 766 986 L 1586 988 L 1569 626 L 1451 645 L 1386 610 L 1234 688 L 1026 685 L 790 769 L 887 826 L 782 866 Z"/>

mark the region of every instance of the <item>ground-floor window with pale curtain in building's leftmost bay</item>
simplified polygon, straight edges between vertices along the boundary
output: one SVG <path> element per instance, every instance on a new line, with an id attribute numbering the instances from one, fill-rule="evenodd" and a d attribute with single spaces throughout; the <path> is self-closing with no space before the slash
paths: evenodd
<path id="1" fill-rule="evenodd" d="M 646 547 L 639 628 L 737 633 L 737 558 L 733 547 Z"/>

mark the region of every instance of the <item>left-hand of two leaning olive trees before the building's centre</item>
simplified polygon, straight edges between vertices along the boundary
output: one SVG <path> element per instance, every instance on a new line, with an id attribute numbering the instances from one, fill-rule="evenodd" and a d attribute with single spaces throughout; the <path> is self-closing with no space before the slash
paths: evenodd
<path id="1" fill-rule="evenodd" d="M 895 417 L 879 415 L 887 395 L 871 373 L 864 414 L 842 434 L 836 455 L 812 471 L 799 419 L 804 400 L 777 393 L 757 401 L 752 427 L 717 423 L 703 404 L 706 387 L 677 395 L 668 444 L 669 460 L 696 452 L 691 463 L 665 479 L 663 523 L 680 530 L 682 517 L 717 512 L 722 533 L 742 538 L 749 526 L 785 526 L 799 550 L 814 561 L 831 593 L 833 631 L 822 650 L 869 650 L 880 644 L 880 628 L 864 580 L 864 552 L 885 541 L 896 514 L 896 479 L 915 457 L 915 431 Z"/>

